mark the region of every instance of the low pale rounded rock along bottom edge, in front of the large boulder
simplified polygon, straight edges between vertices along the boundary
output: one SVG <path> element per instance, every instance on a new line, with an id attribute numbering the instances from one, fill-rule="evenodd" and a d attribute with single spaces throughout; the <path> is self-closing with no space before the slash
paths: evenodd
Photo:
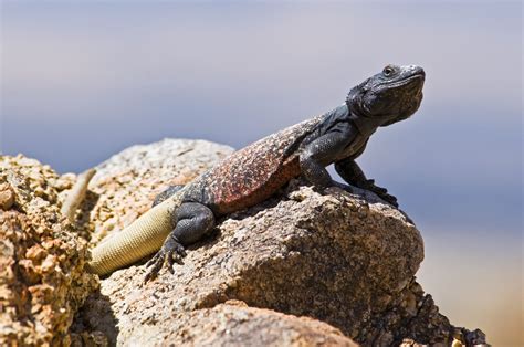
<path id="1" fill-rule="evenodd" d="M 171 319 L 168 328 L 160 328 L 161 322 L 146 322 L 153 325 L 151 329 L 158 329 L 157 335 L 137 334 L 126 345 L 133 341 L 143 346 L 357 346 L 328 324 L 248 307 L 238 301 L 181 313 Z M 91 341 L 86 334 L 82 337 L 84 344 Z"/>

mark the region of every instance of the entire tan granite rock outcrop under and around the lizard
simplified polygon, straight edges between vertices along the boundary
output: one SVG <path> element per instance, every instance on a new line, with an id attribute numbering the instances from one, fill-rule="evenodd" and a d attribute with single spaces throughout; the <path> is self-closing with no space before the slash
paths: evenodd
<path id="1" fill-rule="evenodd" d="M 319 193 L 293 180 L 219 220 L 174 275 L 147 284 L 143 263 L 99 286 L 84 271 L 87 240 L 122 231 L 167 186 L 231 153 L 201 140 L 130 147 L 96 168 L 71 222 L 60 208 L 75 175 L 1 157 L 0 345 L 485 344 L 417 283 L 423 242 L 409 218 L 356 188 Z"/>

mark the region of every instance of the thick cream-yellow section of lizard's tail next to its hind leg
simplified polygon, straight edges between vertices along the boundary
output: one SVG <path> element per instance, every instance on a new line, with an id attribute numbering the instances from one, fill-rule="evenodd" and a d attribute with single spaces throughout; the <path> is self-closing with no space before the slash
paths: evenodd
<path id="1" fill-rule="evenodd" d="M 87 271 L 105 275 L 158 251 L 172 230 L 171 213 L 180 204 L 178 197 L 176 193 L 123 231 L 103 240 L 92 250 Z"/>

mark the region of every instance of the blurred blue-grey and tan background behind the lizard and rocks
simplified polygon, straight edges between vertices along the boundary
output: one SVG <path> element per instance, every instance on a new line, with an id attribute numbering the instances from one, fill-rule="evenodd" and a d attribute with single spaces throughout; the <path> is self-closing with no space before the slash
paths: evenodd
<path id="1" fill-rule="evenodd" d="M 455 325 L 524 344 L 522 2 L 27 2 L 1 7 L 0 150 L 60 172 L 134 144 L 240 148 L 344 102 L 387 63 L 426 69 L 413 118 L 359 160 L 426 241 Z"/>

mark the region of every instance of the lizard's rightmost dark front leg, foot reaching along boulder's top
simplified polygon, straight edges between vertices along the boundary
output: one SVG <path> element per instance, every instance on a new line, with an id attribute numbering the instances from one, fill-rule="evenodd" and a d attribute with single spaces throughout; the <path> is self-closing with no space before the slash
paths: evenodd
<path id="1" fill-rule="evenodd" d="M 358 164 L 353 158 L 346 158 L 335 162 L 335 170 L 352 186 L 370 190 L 380 199 L 398 208 L 397 198 L 389 194 L 386 188 L 375 186 L 375 180 L 367 179 Z"/>

